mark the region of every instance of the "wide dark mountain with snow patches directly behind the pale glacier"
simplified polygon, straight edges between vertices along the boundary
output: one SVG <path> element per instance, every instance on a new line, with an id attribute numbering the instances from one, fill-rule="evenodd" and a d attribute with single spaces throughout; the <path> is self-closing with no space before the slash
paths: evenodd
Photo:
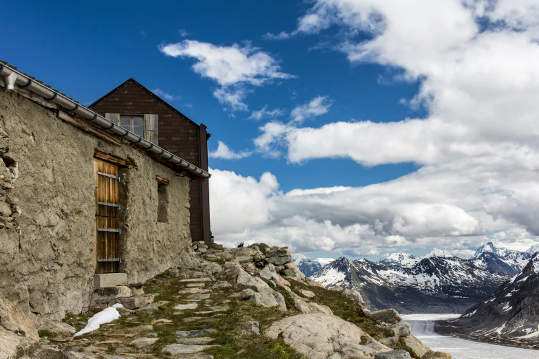
<path id="1" fill-rule="evenodd" d="M 466 259 L 434 256 L 421 259 L 410 268 L 341 257 L 311 278 L 327 288 L 358 290 L 372 309 L 462 313 L 488 298 L 509 276 L 487 272 Z"/>

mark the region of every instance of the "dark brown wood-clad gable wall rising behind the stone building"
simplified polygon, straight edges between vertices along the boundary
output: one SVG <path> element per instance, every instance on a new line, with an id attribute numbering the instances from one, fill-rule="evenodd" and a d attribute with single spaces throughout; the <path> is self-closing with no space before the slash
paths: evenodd
<path id="1" fill-rule="evenodd" d="M 208 171 L 206 126 L 196 124 L 136 80 L 129 78 L 89 108 L 101 116 L 157 115 L 159 146 Z M 208 181 L 191 181 L 190 186 L 191 238 L 210 244 Z"/>

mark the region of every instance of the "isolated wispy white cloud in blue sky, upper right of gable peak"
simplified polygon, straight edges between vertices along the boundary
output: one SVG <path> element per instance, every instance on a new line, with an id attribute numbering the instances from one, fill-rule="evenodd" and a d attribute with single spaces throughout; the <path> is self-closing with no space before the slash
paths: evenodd
<path id="1" fill-rule="evenodd" d="M 246 110 L 242 100 L 248 92 L 247 86 L 263 86 L 275 79 L 293 78 L 281 71 L 275 58 L 249 44 L 220 46 L 184 40 L 160 45 L 159 50 L 167 56 L 195 59 L 193 71 L 218 83 L 220 88 L 213 94 L 233 110 Z"/>

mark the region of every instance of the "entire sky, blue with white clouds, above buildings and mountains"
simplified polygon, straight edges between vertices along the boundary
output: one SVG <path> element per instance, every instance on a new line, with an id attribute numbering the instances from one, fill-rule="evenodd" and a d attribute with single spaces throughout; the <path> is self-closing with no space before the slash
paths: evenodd
<path id="1" fill-rule="evenodd" d="M 535 170 L 522 164 L 508 178 L 508 168 L 485 163 L 520 163 L 507 149 L 535 155 L 536 108 L 503 92 L 534 94 L 535 83 L 496 78 L 511 61 L 496 61 L 496 50 L 533 58 L 536 21 L 507 1 L 490 10 L 434 3 L 17 1 L 7 6 L 2 59 L 85 104 L 132 77 L 206 124 L 210 151 L 221 141 L 249 153 L 210 159 L 212 229 L 224 243 L 264 239 L 312 257 L 371 259 L 436 246 L 466 255 L 487 239 L 525 248 L 539 232 L 522 215 L 535 206 Z M 485 23 L 502 25 L 493 35 Z M 286 39 L 268 39 L 282 32 Z M 508 36 L 520 47 L 508 50 Z M 212 62 L 233 63 L 235 52 L 253 73 Z M 219 89 L 241 93 L 242 108 L 220 101 Z M 322 111 L 293 121 L 294 109 L 320 96 Z M 505 107 L 490 113 L 490 100 Z M 279 111 L 253 119 L 264 108 Z M 266 124 L 286 129 L 257 146 Z M 345 188 L 328 189 L 337 186 Z"/>

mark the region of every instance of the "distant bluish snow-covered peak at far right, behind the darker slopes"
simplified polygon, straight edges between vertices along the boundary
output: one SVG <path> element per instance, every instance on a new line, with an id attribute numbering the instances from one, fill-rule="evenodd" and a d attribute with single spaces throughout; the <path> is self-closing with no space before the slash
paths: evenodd
<path id="1" fill-rule="evenodd" d="M 513 276 L 529 262 L 533 254 L 533 252 L 529 252 L 531 250 L 533 247 L 526 252 L 519 252 L 489 242 L 480 246 L 469 261 L 489 272 L 500 272 Z"/>

